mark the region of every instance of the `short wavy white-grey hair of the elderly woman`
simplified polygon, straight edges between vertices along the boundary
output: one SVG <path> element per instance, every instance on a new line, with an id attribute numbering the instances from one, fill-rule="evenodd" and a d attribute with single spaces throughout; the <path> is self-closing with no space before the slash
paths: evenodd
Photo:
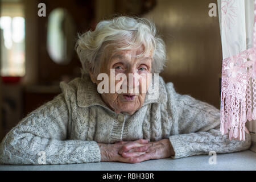
<path id="1" fill-rule="evenodd" d="M 115 51 L 144 46 L 145 53 L 153 51 L 152 73 L 160 73 L 166 62 L 166 48 L 163 40 L 156 35 L 155 24 L 146 18 L 119 16 L 102 20 L 94 31 L 87 31 L 76 43 L 76 52 L 83 72 L 99 73 L 102 49 L 114 45 Z"/>

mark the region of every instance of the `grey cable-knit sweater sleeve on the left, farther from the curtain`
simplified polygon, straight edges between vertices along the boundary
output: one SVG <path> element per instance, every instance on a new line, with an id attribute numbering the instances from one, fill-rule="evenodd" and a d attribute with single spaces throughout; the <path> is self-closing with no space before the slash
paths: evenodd
<path id="1" fill-rule="evenodd" d="M 2 164 L 71 164 L 100 162 L 94 141 L 68 140 L 71 122 L 64 94 L 18 123 L 0 144 Z"/>

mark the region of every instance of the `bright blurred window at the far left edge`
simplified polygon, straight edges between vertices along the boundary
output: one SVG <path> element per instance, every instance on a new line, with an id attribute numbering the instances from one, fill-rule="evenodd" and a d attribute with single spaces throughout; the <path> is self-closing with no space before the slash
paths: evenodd
<path id="1" fill-rule="evenodd" d="M 0 36 L 1 76 L 24 76 L 25 19 L 22 4 L 2 3 Z"/>

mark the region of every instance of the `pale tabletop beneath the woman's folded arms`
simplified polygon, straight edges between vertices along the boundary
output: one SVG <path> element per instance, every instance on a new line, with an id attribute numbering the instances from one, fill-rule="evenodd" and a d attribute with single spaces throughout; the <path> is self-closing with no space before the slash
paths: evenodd
<path id="1" fill-rule="evenodd" d="M 176 170 L 256 170 L 256 153 L 250 150 L 230 154 L 217 154 L 216 164 L 209 164 L 209 155 L 181 159 L 148 160 L 142 163 L 83 163 L 61 165 L 0 165 L 0 171 L 176 171 Z"/>

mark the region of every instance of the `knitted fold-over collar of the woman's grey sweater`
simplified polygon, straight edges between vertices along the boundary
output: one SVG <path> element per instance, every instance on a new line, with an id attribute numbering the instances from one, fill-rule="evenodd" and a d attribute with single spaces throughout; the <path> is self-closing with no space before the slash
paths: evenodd
<path id="1" fill-rule="evenodd" d="M 109 107 L 102 100 L 101 95 L 97 92 L 97 85 L 94 84 L 88 74 L 82 76 L 82 81 L 79 82 L 77 88 L 77 105 L 80 107 L 90 107 L 99 105 L 110 110 Z M 152 77 L 152 82 L 154 78 Z M 146 94 L 144 105 L 153 103 L 164 103 L 167 102 L 167 92 L 163 78 L 159 76 L 159 95 L 158 97 L 152 98 L 150 94 Z M 112 110 L 111 110 L 112 111 Z"/>

